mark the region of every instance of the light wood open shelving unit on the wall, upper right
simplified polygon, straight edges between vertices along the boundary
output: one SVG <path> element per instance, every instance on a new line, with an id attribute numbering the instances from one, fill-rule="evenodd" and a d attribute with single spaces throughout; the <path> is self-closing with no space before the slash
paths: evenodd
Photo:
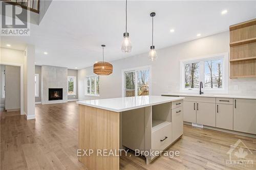
<path id="1" fill-rule="evenodd" d="M 256 19 L 229 27 L 230 78 L 256 77 Z"/>

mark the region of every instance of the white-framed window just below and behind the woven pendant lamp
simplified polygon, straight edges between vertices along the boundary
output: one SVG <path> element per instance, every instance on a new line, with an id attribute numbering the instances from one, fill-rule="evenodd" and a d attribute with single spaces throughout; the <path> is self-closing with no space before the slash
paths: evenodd
<path id="1" fill-rule="evenodd" d="M 86 95 L 99 95 L 99 76 L 86 77 Z"/>

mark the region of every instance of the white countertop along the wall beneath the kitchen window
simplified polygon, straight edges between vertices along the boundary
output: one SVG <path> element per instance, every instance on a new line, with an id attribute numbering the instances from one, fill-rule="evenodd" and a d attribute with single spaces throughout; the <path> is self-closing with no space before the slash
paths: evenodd
<path id="1" fill-rule="evenodd" d="M 163 93 L 162 95 L 194 96 L 194 97 L 207 97 L 207 98 L 256 99 L 256 96 L 234 95 L 234 94 Z"/>

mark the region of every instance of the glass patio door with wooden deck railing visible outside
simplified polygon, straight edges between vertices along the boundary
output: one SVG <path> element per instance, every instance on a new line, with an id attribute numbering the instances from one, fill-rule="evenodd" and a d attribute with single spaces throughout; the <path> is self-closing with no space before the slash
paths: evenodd
<path id="1" fill-rule="evenodd" d="M 123 96 L 148 95 L 151 87 L 150 70 L 149 66 L 123 70 Z"/>

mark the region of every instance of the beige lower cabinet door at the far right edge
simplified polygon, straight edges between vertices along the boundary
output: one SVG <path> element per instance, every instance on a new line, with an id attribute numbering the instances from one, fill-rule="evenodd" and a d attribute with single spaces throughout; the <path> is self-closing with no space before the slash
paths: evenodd
<path id="1" fill-rule="evenodd" d="M 234 99 L 233 130 L 256 134 L 256 100 Z"/>

